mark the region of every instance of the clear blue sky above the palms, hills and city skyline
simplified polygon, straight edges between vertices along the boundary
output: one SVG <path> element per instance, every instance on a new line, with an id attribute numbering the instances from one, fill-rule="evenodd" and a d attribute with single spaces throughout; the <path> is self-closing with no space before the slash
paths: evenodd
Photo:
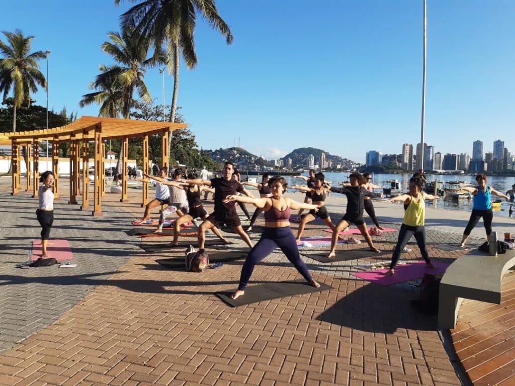
<path id="1" fill-rule="evenodd" d="M 495 139 L 515 152 L 515 2 L 428 0 L 426 142 L 436 151 L 485 151 Z M 422 0 L 218 0 L 231 26 L 227 46 L 199 20 L 199 65 L 181 67 L 179 106 L 205 149 L 241 145 L 265 157 L 313 146 L 364 162 L 367 150 L 400 153 L 420 141 Z M 79 109 L 110 58 L 118 30 L 109 0 L 20 0 L 0 13 L 2 30 L 36 36 L 49 49 L 50 107 Z M 42 61 L 46 71 L 46 63 Z M 158 69 L 145 80 L 161 103 Z M 166 78 L 166 102 L 173 79 Z M 45 94 L 36 95 L 45 104 Z"/>

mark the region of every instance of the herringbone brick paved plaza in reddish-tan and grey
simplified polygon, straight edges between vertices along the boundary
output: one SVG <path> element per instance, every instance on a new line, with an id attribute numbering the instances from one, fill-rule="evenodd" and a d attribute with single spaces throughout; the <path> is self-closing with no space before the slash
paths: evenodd
<path id="1" fill-rule="evenodd" d="M 126 234 L 142 214 L 136 189 L 133 203 L 107 194 L 100 218 L 65 204 L 62 195 L 52 237 L 70 242 L 78 266 L 16 268 L 40 228 L 37 202 L 26 193 L 10 196 L 9 186 L 0 178 L 2 386 L 460 384 L 444 348 L 452 343 L 439 334 L 436 318 L 409 305 L 418 297 L 416 287 L 383 287 L 349 275 L 357 266 L 389 261 L 391 252 L 329 265 L 305 258 L 331 290 L 231 308 L 214 293 L 236 287 L 242 261 L 197 274 L 162 268 L 157 258 L 183 251 L 149 254 L 139 248 L 139 237 Z M 334 197 L 328 203 L 338 220 L 345 204 Z M 377 213 L 381 219 L 381 209 Z M 321 230 L 310 224 L 306 236 Z M 459 233 L 436 227 L 427 233 L 432 257 L 452 261 L 463 253 L 434 247 L 458 242 Z M 385 251 L 396 240 L 397 232 L 374 238 Z M 409 247 L 413 252 L 404 258 L 418 259 L 416 245 Z M 273 253 L 256 266 L 250 285 L 299 278 L 282 254 Z"/>

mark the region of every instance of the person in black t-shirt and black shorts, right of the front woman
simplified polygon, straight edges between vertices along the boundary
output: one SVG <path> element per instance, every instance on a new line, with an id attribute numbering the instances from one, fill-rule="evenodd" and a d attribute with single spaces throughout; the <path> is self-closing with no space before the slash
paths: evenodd
<path id="1" fill-rule="evenodd" d="M 335 193 L 341 193 L 347 196 L 347 212 L 345 216 L 338 222 L 336 229 L 333 231 L 333 237 L 331 240 L 331 252 L 329 252 L 328 258 L 336 256 L 336 242 L 338 241 L 338 235 L 340 232 L 345 231 L 350 224 L 356 225 L 359 232 L 365 237 L 371 251 L 381 252 L 379 249 L 374 247 L 372 238 L 368 234 L 367 224 L 363 219 L 363 210 L 365 208 L 365 197 L 377 198 L 383 197 L 383 194 L 377 194 L 373 191 L 366 190 L 363 186 L 363 176 L 361 173 L 352 173 L 349 176 L 350 186 L 348 187 L 331 187 L 331 191 Z"/>

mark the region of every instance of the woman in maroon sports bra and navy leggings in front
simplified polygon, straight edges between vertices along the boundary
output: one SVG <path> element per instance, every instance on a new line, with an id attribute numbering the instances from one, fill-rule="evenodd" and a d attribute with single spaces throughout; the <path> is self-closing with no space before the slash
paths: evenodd
<path id="1" fill-rule="evenodd" d="M 270 179 L 269 184 L 272 193 L 271 197 L 250 198 L 231 195 L 227 196 L 224 201 L 225 203 L 233 201 L 245 202 L 265 210 L 265 231 L 261 235 L 261 239 L 247 255 L 239 279 L 238 289 L 231 295 L 232 299 L 237 299 L 245 293 L 245 288 L 247 287 L 250 276 L 252 276 L 254 266 L 276 248 L 281 248 L 281 251 L 283 251 L 291 264 L 293 264 L 295 268 L 297 268 L 297 271 L 306 279 L 306 282 L 310 283 L 313 287 L 320 287 L 311 277 L 304 261 L 300 258 L 297 242 L 295 241 L 293 233 L 291 233 L 289 223 L 291 210 L 304 208 L 316 211 L 318 205 L 300 203 L 290 198 L 283 197 L 287 186 L 283 177 L 273 177 Z"/>

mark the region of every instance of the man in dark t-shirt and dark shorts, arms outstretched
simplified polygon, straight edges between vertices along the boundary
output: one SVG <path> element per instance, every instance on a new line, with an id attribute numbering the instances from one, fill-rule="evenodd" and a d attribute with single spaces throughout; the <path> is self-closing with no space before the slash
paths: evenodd
<path id="1" fill-rule="evenodd" d="M 202 180 L 197 178 L 185 181 L 187 184 L 207 185 L 215 188 L 215 210 L 208 218 L 204 219 L 202 225 L 200 225 L 198 229 L 199 249 L 204 248 L 205 231 L 210 230 L 213 226 L 221 227 L 224 224 L 234 227 L 236 233 L 241 236 L 243 241 L 245 241 L 250 248 L 252 248 L 252 242 L 250 241 L 249 235 L 245 233 L 242 223 L 239 221 L 239 216 L 235 207 L 236 202 L 224 203 L 227 196 L 235 195 L 239 192 L 248 197 L 253 197 L 252 194 L 245 190 L 239 181 L 232 178 L 233 173 L 234 164 L 226 162 L 224 164 L 224 170 L 222 170 L 221 178 L 214 178 L 212 180 Z"/>

